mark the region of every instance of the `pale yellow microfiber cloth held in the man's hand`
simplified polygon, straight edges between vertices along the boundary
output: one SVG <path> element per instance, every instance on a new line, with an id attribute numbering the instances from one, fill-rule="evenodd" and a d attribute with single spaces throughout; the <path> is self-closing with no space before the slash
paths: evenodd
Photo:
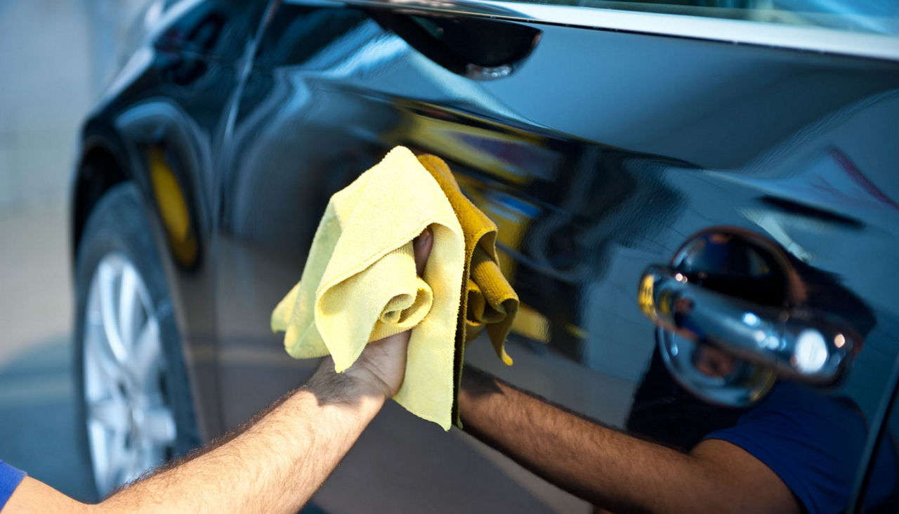
<path id="1" fill-rule="evenodd" d="M 423 279 L 412 240 L 431 226 Z M 271 313 L 294 358 L 331 354 L 338 372 L 365 344 L 414 326 L 403 386 L 409 412 L 449 430 L 465 240 L 441 187 L 407 148 L 334 193 L 299 283 Z"/>

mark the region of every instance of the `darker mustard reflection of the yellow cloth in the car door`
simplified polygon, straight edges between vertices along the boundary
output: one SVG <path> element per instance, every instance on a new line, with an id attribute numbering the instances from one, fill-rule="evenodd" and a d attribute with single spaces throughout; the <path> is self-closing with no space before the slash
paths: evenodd
<path id="1" fill-rule="evenodd" d="M 499 268 L 494 222 L 459 191 L 449 166 L 439 157 L 420 155 L 418 160 L 441 185 L 465 236 L 464 290 L 458 312 L 454 361 L 453 391 L 458 393 L 465 345 L 475 339 L 485 326 L 496 355 L 507 366 L 512 366 L 512 358 L 505 351 L 505 340 L 518 313 L 519 300 Z M 458 403 L 455 402 L 453 421 L 458 423 Z"/>

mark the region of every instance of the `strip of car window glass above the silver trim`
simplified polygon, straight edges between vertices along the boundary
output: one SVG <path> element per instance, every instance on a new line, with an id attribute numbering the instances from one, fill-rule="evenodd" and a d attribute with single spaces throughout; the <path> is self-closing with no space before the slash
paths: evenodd
<path id="1" fill-rule="evenodd" d="M 522 1 L 522 0 L 519 0 Z M 533 4 L 684 14 L 843 31 L 899 34 L 896 0 L 523 0 Z"/>

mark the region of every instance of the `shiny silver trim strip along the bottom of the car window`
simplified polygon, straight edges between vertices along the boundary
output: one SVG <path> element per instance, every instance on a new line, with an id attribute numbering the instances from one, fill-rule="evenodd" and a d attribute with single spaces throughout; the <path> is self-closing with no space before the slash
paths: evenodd
<path id="1" fill-rule="evenodd" d="M 479 16 L 606 31 L 714 40 L 859 58 L 899 60 L 899 37 L 824 27 L 782 25 L 687 14 L 620 11 L 577 5 L 529 4 L 503 0 L 287 0 L 289 4 L 354 5 L 399 11 Z M 678 20 L 672 22 L 672 16 Z"/>

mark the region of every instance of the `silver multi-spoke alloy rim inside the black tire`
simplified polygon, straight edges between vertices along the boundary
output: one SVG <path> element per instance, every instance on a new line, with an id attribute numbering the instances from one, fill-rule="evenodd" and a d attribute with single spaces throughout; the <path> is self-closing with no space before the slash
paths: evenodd
<path id="1" fill-rule="evenodd" d="M 159 319 L 144 280 L 122 253 L 97 264 L 85 309 L 87 438 L 97 490 L 105 495 L 171 455 Z"/>

